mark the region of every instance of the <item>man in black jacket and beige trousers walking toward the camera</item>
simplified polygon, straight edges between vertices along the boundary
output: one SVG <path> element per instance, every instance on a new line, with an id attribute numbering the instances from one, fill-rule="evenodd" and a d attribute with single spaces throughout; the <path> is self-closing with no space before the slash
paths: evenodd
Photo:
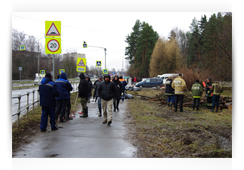
<path id="1" fill-rule="evenodd" d="M 102 109 L 103 109 L 103 123 L 110 125 L 112 123 L 112 104 L 113 98 L 116 95 L 115 84 L 110 81 L 110 75 L 104 75 L 104 81 L 102 81 L 97 89 L 97 97 L 101 97 Z M 108 111 L 107 111 L 108 109 Z"/>

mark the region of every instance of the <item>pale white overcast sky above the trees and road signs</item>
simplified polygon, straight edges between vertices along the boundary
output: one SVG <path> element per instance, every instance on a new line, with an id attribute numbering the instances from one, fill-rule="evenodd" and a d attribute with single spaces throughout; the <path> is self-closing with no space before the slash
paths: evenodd
<path id="1" fill-rule="evenodd" d="M 171 29 L 189 31 L 194 17 L 200 20 L 205 14 L 209 20 L 213 13 L 217 15 L 217 12 L 12 12 L 12 28 L 40 39 L 45 34 L 45 21 L 61 21 L 62 54 L 84 53 L 88 66 L 102 60 L 104 68 L 104 50 L 89 45 L 105 47 L 106 67 L 117 70 L 122 68 L 122 58 L 126 57 L 125 37 L 132 32 L 137 19 L 151 25 L 161 37 L 168 37 Z M 88 48 L 82 47 L 84 41 Z M 40 43 L 44 49 L 45 38 Z"/>

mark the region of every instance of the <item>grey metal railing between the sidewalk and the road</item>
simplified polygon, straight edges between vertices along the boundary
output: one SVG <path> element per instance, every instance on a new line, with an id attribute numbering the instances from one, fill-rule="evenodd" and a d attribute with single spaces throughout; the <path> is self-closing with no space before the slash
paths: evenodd
<path id="1" fill-rule="evenodd" d="M 77 82 L 70 82 L 71 83 L 71 86 L 73 87 L 73 90 L 71 91 L 71 93 L 72 92 L 76 92 L 76 91 L 78 91 L 78 84 L 79 83 L 77 83 Z M 76 86 L 76 87 L 75 87 Z M 37 100 L 36 101 L 34 101 L 35 100 L 35 97 L 34 97 L 34 93 L 35 93 L 35 91 L 37 91 L 38 93 L 37 93 Z M 33 93 L 33 99 L 32 99 L 32 103 L 30 103 L 29 104 L 29 94 L 30 93 Z M 21 110 L 20 110 L 20 103 L 21 103 L 21 97 L 22 96 L 27 96 L 27 104 L 26 104 L 26 106 L 24 107 L 24 108 L 22 108 Z M 26 118 L 28 118 L 28 113 L 29 113 L 29 107 L 30 106 L 32 106 L 33 105 L 33 113 L 34 113 L 34 106 L 35 106 L 35 103 L 38 103 L 38 102 L 40 102 L 40 95 L 39 95 L 39 91 L 38 90 L 32 90 L 31 92 L 27 92 L 27 93 L 25 93 L 25 94 L 22 94 L 22 95 L 18 95 L 18 96 L 15 96 L 15 97 L 12 97 L 12 99 L 16 99 L 16 98 L 18 98 L 18 111 L 16 112 L 16 113 L 14 113 L 14 114 L 12 114 L 12 116 L 15 116 L 15 115 L 17 115 L 18 116 L 18 119 L 17 119 L 17 126 L 19 126 L 19 117 L 20 117 L 20 113 L 21 112 L 23 112 L 25 109 L 27 109 L 27 113 L 26 113 Z"/>

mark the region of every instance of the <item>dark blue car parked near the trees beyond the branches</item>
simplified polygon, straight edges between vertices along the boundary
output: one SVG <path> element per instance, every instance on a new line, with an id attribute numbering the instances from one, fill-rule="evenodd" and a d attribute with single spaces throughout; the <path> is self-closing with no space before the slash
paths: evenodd
<path id="1" fill-rule="evenodd" d="M 136 87 L 142 88 L 150 88 L 150 87 L 157 87 L 157 89 L 160 88 L 160 86 L 163 85 L 163 79 L 161 78 L 147 78 L 146 80 L 143 80 L 141 82 L 136 83 Z"/>

